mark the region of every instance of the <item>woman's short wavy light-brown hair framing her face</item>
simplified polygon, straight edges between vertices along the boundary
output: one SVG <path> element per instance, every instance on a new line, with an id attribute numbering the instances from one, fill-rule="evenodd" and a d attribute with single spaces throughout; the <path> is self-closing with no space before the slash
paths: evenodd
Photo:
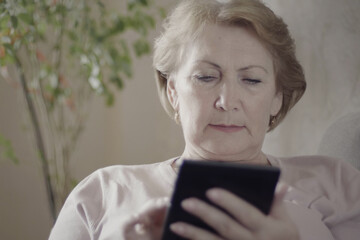
<path id="1" fill-rule="evenodd" d="M 165 111 L 174 118 L 167 97 L 168 78 L 180 66 L 186 44 L 194 41 L 206 24 L 250 28 L 271 53 L 276 89 L 283 93 L 280 111 L 270 117 L 268 131 L 274 129 L 302 97 L 306 81 L 287 25 L 259 0 L 182 0 L 165 19 L 164 30 L 155 41 L 153 59 Z"/>

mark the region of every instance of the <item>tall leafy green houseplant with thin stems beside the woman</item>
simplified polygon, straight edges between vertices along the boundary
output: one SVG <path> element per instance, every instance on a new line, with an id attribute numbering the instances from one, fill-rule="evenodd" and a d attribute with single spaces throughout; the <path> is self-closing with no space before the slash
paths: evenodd
<path id="1" fill-rule="evenodd" d="M 101 0 L 0 0 L 0 78 L 24 96 L 54 220 L 74 186 L 69 162 L 89 98 L 113 104 L 163 15 L 150 0 L 118 4 L 115 13 Z"/>

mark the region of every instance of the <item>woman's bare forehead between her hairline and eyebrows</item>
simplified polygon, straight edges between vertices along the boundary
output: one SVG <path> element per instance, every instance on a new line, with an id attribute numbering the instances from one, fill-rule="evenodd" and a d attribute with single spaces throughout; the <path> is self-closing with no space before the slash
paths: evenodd
<path id="1" fill-rule="evenodd" d="M 261 66 L 273 68 L 272 56 L 257 36 L 245 27 L 207 25 L 184 49 L 184 62 L 211 62 L 220 67 Z"/>

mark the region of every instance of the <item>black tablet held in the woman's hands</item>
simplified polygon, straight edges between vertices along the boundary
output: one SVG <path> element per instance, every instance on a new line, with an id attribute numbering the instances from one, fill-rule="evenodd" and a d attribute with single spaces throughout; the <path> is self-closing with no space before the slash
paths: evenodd
<path id="1" fill-rule="evenodd" d="M 202 220 L 181 208 L 181 202 L 189 197 L 196 197 L 212 204 L 205 193 L 214 187 L 229 190 L 256 206 L 264 214 L 268 214 L 279 175 L 280 169 L 271 166 L 184 160 L 175 183 L 162 239 L 183 239 L 169 229 L 170 224 L 178 221 L 216 233 Z"/>

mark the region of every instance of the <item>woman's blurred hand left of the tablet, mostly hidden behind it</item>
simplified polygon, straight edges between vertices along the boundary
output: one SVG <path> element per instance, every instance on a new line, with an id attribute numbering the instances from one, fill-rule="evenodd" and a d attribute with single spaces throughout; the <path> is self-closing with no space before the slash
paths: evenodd
<path id="1" fill-rule="evenodd" d="M 123 225 L 124 239 L 161 239 L 162 228 L 168 206 L 168 198 L 161 198 L 147 202 L 138 214 L 129 217 Z"/>

